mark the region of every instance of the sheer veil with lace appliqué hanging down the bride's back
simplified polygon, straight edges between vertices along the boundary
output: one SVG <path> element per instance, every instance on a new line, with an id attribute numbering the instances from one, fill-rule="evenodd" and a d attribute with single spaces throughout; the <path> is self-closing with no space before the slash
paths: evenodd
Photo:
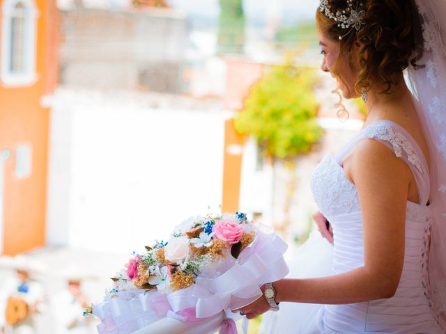
<path id="1" fill-rule="evenodd" d="M 423 55 L 407 70 L 431 155 L 430 241 L 424 284 L 434 317 L 446 331 L 446 0 L 414 0 Z"/>

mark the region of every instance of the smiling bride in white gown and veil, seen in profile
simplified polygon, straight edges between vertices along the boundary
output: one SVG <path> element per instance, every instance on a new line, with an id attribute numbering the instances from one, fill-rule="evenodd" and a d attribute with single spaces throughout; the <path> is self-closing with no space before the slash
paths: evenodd
<path id="1" fill-rule="evenodd" d="M 312 239 L 300 258 L 328 249 L 327 275 L 268 283 L 240 309 L 247 319 L 278 310 L 268 333 L 446 333 L 445 7 L 321 0 L 321 68 L 345 98 L 362 96 L 367 120 L 312 175 L 332 246 Z"/>

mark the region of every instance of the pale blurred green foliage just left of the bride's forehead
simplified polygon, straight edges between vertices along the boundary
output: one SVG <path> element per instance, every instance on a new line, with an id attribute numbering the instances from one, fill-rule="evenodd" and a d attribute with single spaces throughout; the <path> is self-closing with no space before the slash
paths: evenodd
<path id="1" fill-rule="evenodd" d="M 282 26 L 275 34 L 275 43 L 284 47 L 311 45 L 318 47 L 316 22 L 300 22 L 294 26 Z"/>

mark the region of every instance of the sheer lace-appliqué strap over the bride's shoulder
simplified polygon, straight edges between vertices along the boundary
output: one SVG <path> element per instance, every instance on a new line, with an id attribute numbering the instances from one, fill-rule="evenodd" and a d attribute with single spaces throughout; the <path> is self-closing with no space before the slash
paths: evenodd
<path id="1" fill-rule="evenodd" d="M 337 160 L 341 161 L 341 159 L 345 159 L 348 153 L 353 151 L 356 144 L 364 138 L 373 138 L 380 141 L 392 150 L 397 157 L 406 162 L 415 177 L 420 196 L 420 204 L 425 205 L 429 200 L 429 169 L 420 146 L 406 129 L 390 120 L 378 120 L 362 129 L 339 152 Z"/>

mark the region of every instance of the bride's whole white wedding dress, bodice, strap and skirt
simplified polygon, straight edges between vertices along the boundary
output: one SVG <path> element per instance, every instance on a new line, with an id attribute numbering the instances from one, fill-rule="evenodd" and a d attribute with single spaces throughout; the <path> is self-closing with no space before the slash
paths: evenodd
<path id="1" fill-rule="evenodd" d="M 407 202 L 403 272 L 392 298 L 345 305 L 281 303 L 279 312 L 263 320 L 266 333 L 446 333 L 429 300 L 426 262 L 429 247 L 429 169 L 422 150 L 410 134 L 389 120 L 378 120 L 362 129 L 339 153 L 326 155 L 314 170 L 311 187 L 321 213 L 330 221 L 334 244 L 313 235 L 291 264 L 290 277 L 318 277 L 344 273 L 364 265 L 360 202 L 355 184 L 342 161 L 362 140 L 383 143 L 412 171 L 420 202 Z M 378 180 L 377 180 L 378 182 Z M 318 257 L 315 259 L 315 255 Z M 300 263 L 299 263 L 300 262 Z M 295 267 L 293 269 L 293 267 Z"/>

